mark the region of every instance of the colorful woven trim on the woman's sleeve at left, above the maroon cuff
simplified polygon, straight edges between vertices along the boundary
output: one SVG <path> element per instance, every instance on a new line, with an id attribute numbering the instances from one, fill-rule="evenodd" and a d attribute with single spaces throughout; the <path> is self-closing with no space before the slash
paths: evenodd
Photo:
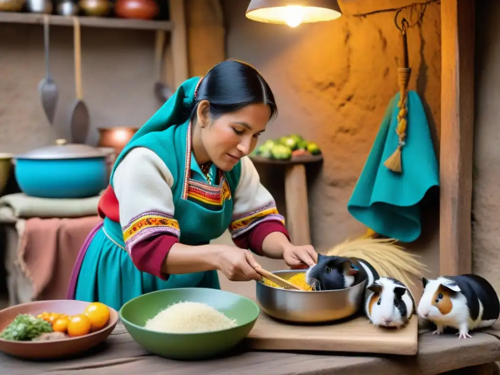
<path id="1" fill-rule="evenodd" d="M 132 245 L 158 233 L 180 236 L 179 223 L 172 215 L 158 211 L 146 211 L 133 217 L 121 228 L 125 248 L 130 253 Z"/>

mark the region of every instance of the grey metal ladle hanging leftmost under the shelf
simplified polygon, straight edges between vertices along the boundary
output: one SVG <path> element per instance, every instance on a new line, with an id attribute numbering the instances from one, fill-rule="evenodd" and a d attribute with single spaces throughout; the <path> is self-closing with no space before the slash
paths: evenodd
<path id="1" fill-rule="evenodd" d="M 45 53 L 45 77 L 38 83 L 38 91 L 40 92 L 41 105 L 47 116 L 48 122 L 52 125 L 54 121 L 55 107 L 57 105 L 57 86 L 50 76 L 48 47 L 50 43 L 49 37 L 49 18 L 48 14 L 43 14 L 43 49 Z"/>

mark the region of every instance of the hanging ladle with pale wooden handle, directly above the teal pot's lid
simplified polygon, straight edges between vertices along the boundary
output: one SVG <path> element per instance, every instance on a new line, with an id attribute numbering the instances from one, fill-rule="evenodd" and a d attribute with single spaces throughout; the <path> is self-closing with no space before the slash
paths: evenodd
<path id="1" fill-rule="evenodd" d="M 78 17 L 73 17 L 73 48 L 74 48 L 74 86 L 76 99 L 69 112 L 69 130 L 72 143 L 85 143 L 88 135 L 90 118 L 88 108 L 83 101 L 83 88 L 81 85 L 81 43 L 80 22 Z"/>

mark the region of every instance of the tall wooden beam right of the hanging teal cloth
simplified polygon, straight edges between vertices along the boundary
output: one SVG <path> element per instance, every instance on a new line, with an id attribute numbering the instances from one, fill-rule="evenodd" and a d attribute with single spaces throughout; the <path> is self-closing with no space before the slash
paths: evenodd
<path id="1" fill-rule="evenodd" d="M 471 271 L 474 1 L 441 0 L 439 272 Z"/>

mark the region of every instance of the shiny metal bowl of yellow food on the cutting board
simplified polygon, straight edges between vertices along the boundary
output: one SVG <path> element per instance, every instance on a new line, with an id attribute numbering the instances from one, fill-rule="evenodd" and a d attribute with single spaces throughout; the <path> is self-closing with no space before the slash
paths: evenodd
<path id="1" fill-rule="evenodd" d="M 304 270 L 274 271 L 287 279 Z M 362 305 L 366 279 L 339 290 L 301 291 L 256 283 L 257 303 L 266 314 L 297 323 L 319 323 L 351 316 Z"/>

